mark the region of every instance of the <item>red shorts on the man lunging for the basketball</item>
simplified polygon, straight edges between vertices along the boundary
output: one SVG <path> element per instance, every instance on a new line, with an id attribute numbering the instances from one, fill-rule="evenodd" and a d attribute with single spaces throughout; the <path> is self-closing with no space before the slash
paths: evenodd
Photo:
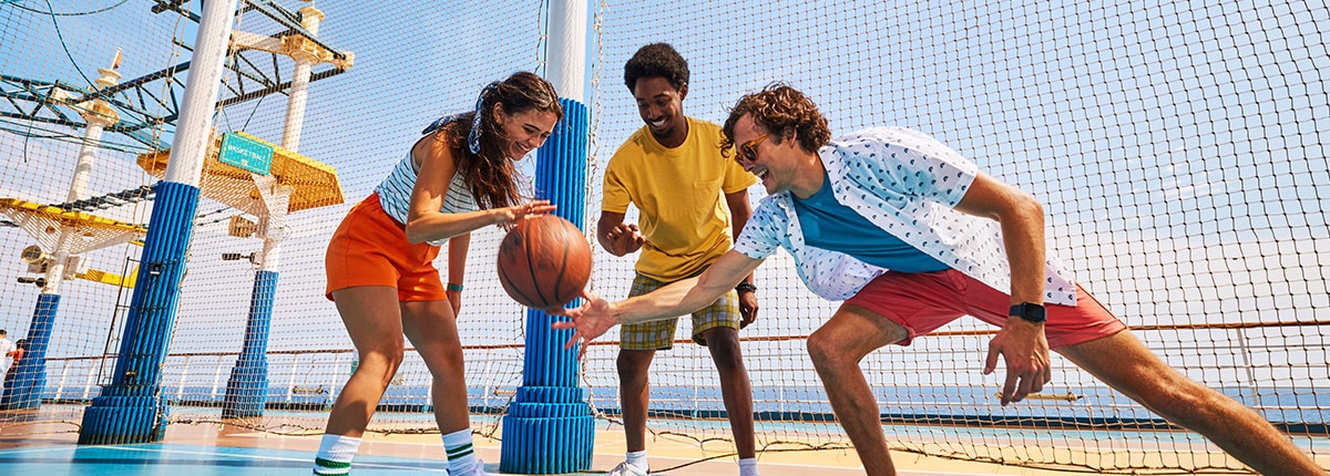
<path id="1" fill-rule="evenodd" d="M 898 342 L 908 346 L 963 315 L 1003 326 L 1011 310 L 1011 297 L 956 270 L 936 273 L 888 271 L 872 279 L 845 302 L 878 312 L 903 326 L 910 335 Z M 1049 348 L 1075 346 L 1107 338 L 1127 328 L 1104 304 L 1076 285 L 1076 306 L 1048 304 L 1044 335 Z"/>

